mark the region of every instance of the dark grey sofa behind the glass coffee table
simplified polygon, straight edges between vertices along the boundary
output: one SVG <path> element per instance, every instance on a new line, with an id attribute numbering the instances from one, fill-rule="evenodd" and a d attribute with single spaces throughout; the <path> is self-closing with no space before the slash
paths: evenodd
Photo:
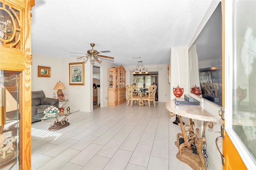
<path id="1" fill-rule="evenodd" d="M 47 107 L 55 106 L 59 108 L 59 100 L 45 97 L 44 91 L 32 91 L 32 123 L 38 120 L 33 119 L 35 115 L 44 113 Z"/>

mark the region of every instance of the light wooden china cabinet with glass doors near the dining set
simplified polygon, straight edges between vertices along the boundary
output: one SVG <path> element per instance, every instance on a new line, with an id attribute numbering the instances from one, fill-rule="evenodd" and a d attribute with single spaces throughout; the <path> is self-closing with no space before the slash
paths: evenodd
<path id="1" fill-rule="evenodd" d="M 108 105 L 116 106 L 126 102 L 126 71 L 124 66 L 108 69 Z"/>

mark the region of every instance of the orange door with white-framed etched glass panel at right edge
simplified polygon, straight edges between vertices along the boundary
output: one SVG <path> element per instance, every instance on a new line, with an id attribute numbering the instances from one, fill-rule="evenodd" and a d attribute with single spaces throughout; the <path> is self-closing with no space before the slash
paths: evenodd
<path id="1" fill-rule="evenodd" d="M 256 1 L 223 5 L 223 169 L 256 169 Z"/>

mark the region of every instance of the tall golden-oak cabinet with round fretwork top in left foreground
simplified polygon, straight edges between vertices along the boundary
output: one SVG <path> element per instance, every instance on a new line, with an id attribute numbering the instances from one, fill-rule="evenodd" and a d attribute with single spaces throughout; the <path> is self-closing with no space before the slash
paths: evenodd
<path id="1" fill-rule="evenodd" d="M 31 9 L 0 1 L 0 169 L 31 169 Z"/>

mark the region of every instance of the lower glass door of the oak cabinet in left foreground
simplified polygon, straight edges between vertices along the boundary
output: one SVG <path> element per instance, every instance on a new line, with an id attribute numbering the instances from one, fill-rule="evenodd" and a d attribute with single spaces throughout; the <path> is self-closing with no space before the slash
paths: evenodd
<path id="1" fill-rule="evenodd" d="M 20 76 L 0 70 L 0 169 L 19 169 Z"/>

